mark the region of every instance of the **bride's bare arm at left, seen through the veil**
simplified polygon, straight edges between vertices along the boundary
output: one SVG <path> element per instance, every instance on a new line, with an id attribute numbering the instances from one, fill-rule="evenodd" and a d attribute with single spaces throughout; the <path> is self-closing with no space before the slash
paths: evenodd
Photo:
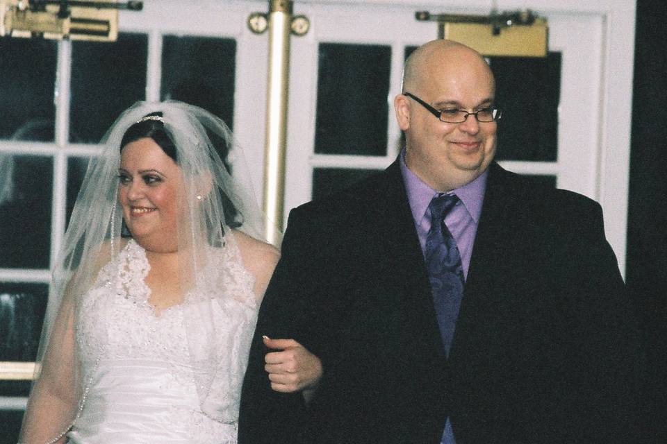
<path id="1" fill-rule="evenodd" d="M 42 339 L 44 340 L 44 339 Z M 53 323 L 41 371 L 33 385 L 19 443 L 65 443 L 76 416 L 76 362 L 74 359 L 74 303 L 65 296 Z"/>

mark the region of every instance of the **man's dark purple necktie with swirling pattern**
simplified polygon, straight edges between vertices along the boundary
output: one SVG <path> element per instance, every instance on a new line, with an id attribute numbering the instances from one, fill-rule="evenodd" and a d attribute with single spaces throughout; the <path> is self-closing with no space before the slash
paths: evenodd
<path id="1" fill-rule="evenodd" d="M 438 194 L 431 200 L 431 229 L 426 237 L 424 252 L 440 336 L 447 356 L 450 354 L 456 318 L 459 316 L 464 282 L 459 247 L 445 225 L 445 216 L 457 202 L 459 197 L 456 194 Z M 440 443 L 456 444 L 450 418 L 445 421 Z"/>

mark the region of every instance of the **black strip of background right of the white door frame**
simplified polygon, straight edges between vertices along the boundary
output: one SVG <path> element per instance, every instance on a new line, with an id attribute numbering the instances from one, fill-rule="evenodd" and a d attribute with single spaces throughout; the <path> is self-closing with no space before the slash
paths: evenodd
<path id="1" fill-rule="evenodd" d="M 627 286 L 645 339 L 650 443 L 667 443 L 667 6 L 638 0 L 627 230 Z"/>

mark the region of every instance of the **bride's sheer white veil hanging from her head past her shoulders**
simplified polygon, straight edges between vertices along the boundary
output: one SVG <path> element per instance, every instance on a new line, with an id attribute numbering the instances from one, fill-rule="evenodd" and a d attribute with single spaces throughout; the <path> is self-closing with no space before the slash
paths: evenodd
<path id="1" fill-rule="evenodd" d="M 242 152 L 222 120 L 206 110 L 178 101 L 139 102 L 126 110 L 104 136 L 101 142 L 104 149 L 101 155 L 90 160 L 74 205 L 53 271 L 35 382 L 19 438 L 21 443 L 56 442 L 76 421 L 85 405 L 90 388 L 89 373 L 93 372 L 90 367 L 82 370 L 84 357 L 77 344 L 81 300 L 95 285 L 101 268 L 115 261 L 128 242 L 124 238 L 122 210 L 117 200 L 120 144 L 130 126 L 155 112 L 162 113 L 165 130 L 176 146 L 177 164 L 182 174 L 183 185 L 176 197 L 179 293 L 186 332 L 184 340 L 192 368 L 197 369 L 195 383 L 201 411 L 219 422 L 237 419 L 230 412 L 238 414 L 238 408 L 230 409 L 229 404 L 238 407 L 247 353 L 219 350 L 220 341 L 215 340 L 224 329 L 211 315 L 211 307 L 224 309 L 233 302 L 227 299 L 235 296 L 233 291 L 220 288 L 219 271 L 212 265 L 217 264 L 215 261 L 220 257 L 216 252 L 233 241 L 233 236 L 229 235 L 232 230 L 264 240 L 266 221 L 256 204 Z M 118 282 L 112 283 L 114 288 L 116 284 Z M 252 306 L 248 312 L 256 316 L 255 300 L 236 302 Z M 97 303 L 109 306 L 114 304 L 114 299 Z M 256 319 L 249 315 L 247 322 L 254 321 Z M 250 338 L 247 341 L 249 348 Z M 232 359 L 233 355 L 236 357 Z M 85 359 L 94 361 L 95 357 Z M 37 421 L 38 427 L 30 424 L 31 421 Z"/>

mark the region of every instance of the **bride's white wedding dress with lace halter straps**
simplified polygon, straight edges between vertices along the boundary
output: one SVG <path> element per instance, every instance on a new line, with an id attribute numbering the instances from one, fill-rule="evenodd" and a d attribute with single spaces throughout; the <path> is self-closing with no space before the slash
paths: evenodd
<path id="1" fill-rule="evenodd" d="M 192 368 L 192 343 L 183 323 L 186 308 L 176 305 L 156 313 L 144 282 L 149 271 L 145 250 L 130 240 L 102 268 L 80 307 L 76 347 L 87 383 L 69 443 L 236 443 L 256 302 L 254 278 L 230 238 L 214 250 L 218 260 L 206 267 L 206 278 L 216 279 L 213 287 L 225 292 L 211 304 L 216 332 L 222 331 L 215 338 L 221 365 L 207 398 L 217 420 L 201 411 L 198 369 Z M 212 296 L 195 295 L 186 305 Z"/>

